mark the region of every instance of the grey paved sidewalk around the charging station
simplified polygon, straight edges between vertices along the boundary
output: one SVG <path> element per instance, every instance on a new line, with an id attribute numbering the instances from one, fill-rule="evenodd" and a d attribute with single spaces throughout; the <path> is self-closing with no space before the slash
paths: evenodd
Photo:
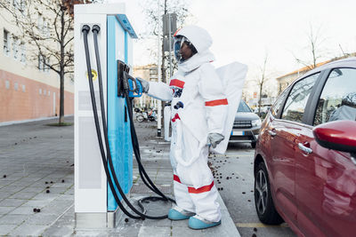
<path id="1" fill-rule="evenodd" d="M 72 121 L 72 117 L 66 119 Z M 221 198 L 222 225 L 203 231 L 189 229 L 186 220 L 142 221 L 125 215 L 119 217 L 115 229 L 75 230 L 73 126 L 45 125 L 52 122 L 56 121 L 0 127 L 0 235 L 239 236 Z M 142 163 L 158 188 L 173 196 L 173 174 L 167 158 L 169 143 L 155 137 L 154 125 L 153 122 L 136 124 Z M 135 201 L 150 194 L 134 162 L 134 186 L 129 197 Z M 150 215 L 160 216 L 170 207 L 171 203 L 163 201 L 146 204 Z"/>

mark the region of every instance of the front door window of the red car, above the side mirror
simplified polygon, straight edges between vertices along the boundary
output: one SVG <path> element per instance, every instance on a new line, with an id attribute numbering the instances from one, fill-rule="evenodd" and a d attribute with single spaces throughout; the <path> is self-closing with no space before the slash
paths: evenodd
<path id="1" fill-rule="evenodd" d="M 336 68 L 328 75 L 315 111 L 313 125 L 356 119 L 356 69 Z"/>

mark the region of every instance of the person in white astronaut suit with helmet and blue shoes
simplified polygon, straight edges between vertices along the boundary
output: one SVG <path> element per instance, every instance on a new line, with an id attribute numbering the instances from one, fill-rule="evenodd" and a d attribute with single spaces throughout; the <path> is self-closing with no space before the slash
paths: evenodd
<path id="1" fill-rule="evenodd" d="M 151 97 L 171 101 L 170 160 L 176 206 L 169 210 L 168 218 L 189 218 L 193 229 L 221 224 L 218 193 L 207 156 L 209 146 L 215 147 L 228 137 L 224 135 L 224 123 L 229 103 L 222 80 L 211 64 L 212 42 L 203 28 L 188 26 L 178 30 L 174 34 L 178 72 L 169 86 L 139 79 L 143 91 Z"/>

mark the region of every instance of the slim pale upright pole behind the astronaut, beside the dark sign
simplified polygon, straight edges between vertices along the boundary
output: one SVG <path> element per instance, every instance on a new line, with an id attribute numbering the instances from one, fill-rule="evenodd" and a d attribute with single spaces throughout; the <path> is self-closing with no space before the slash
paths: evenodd
<path id="1" fill-rule="evenodd" d="M 160 67 L 160 59 L 161 59 L 161 54 L 160 54 L 160 51 L 161 51 L 161 18 L 160 18 L 160 5 L 159 5 L 159 0 L 157 1 L 158 2 L 158 12 L 157 12 L 157 15 L 158 15 L 158 41 L 157 41 L 157 50 L 158 50 L 158 58 L 157 58 L 157 72 L 158 72 L 158 83 L 161 81 L 161 67 Z M 161 133 L 162 133 L 162 101 L 158 100 L 158 108 L 157 108 L 157 136 L 158 137 L 161 137 Z"/>

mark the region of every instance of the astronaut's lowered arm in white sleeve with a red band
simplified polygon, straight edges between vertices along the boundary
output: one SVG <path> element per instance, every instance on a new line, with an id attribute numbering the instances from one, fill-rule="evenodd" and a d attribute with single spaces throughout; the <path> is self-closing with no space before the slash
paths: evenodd
<path id="1" fill-rule="evenodd" d="M 209 137 L 213 140 L 219 140 L 218 144 L 223 140 L 223 127 L 228 112 L 228 99 L 223 90 L 222 81 L 212 65 L 205 64 L 201 66 L 198 90 L 205 101 L 208 134 L 221 135 Z"/>

